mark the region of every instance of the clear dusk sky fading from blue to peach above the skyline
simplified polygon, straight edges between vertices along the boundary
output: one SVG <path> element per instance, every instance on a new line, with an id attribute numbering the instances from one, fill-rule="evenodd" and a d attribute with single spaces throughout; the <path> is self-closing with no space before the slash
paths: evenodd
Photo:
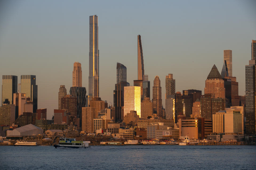
<path id="1" fill-rule="evenodd" d="M 113 104 L 116 63 L 137 79 L 137 35 L 141 35 L 145 74 L 159 76 L 165 108 L 165 76 L 176 91 L 204 93 L 223 50 L 232 50 L 233 76 L 245 95 L 245 65 L 256 39 L 256 1 L 67 1 L 0 0 L 0 75 L 36 75 L 38 108 L 47 119 L 58 109 L 58 91 L 72 86 L 73 63 L 82 65 L 88 95 L 89 16 L 98 15 L 99 96 Z M 0 82 L 0 86 L 2 81 Z M 2 91 L 0 91 L 2 96 Z"/>

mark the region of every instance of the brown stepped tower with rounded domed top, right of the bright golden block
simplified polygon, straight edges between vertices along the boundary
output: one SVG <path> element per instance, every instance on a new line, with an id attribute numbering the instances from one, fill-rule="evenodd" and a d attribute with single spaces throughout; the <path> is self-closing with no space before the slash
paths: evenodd
<path id="1" fill-rule="evenodd" d="M 162 87 L 160 84 L 160 79 L 155 76 L 154 79 L 154 86 L 153 86 L 153 112 L 156 113 L 158 116 L 163 116 L 162 111 Z"/>

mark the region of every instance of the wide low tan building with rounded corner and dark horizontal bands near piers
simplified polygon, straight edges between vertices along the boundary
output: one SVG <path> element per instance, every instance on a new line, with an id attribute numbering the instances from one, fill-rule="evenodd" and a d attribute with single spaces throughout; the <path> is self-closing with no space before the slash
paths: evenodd
<path id="1" fill-rule="evenodd" d="M 179 136 L 204 139 L 212 132 L 211 119 L 203 117 L 179 119 Z"/>

